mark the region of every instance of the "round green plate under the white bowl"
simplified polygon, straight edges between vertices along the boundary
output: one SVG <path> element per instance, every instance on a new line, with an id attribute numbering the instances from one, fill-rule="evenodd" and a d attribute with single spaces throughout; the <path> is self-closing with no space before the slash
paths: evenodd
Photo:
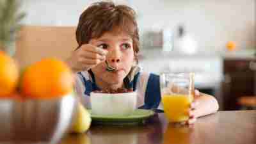
<path id="1" fill-rule="evenodd" d="M 138 125 L 147 123 L 147 119 L 154 115 L 154 111 L 147 109 L 136 109 L 129 115 L 95 115 L 88 110 L 93 124 L 102 125 Z"/>

